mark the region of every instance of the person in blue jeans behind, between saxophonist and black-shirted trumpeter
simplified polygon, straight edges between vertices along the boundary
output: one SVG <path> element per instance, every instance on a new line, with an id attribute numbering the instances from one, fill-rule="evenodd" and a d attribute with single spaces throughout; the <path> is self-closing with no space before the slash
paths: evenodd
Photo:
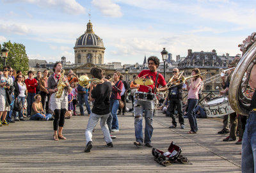
<path id="1" fill-rule="evenodd" d="M 80 116 L 84 115 L 84 103 L 87 109 L 88 116 L 91 114 L 90 105 L 88 102 L 88 88 L 82 87 L 78 84 L 77 86 L 77 98 L 79 103 L 79 109 L 80 109 Z"/>

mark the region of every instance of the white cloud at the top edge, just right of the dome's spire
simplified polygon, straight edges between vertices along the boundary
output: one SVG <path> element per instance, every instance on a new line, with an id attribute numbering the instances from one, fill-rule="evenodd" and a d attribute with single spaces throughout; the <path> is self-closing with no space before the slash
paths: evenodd
<path id="1" fill-rule="evenodd" d="M 92 4 L 106 17 L 122 17 L 121 7 L 112 0 L 93 0 Z"/>

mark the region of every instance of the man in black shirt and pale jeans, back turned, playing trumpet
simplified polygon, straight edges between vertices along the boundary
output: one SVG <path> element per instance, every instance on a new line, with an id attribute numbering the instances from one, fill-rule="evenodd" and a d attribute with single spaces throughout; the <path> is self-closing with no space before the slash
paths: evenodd
<path id="1" fill-rule="evenodd" d="M 92 131 L 100 119 L 100 127 L 102 129 L 104 140 L 108 147 L 113 147 L 112 139 L 110 137 L 107 119 L 110 114 L 110 94 L 112 91 L 111 83 L 108 80 L 103 79 L 102 69 L 94 67 L 91 69 L 90 73 L 93 78 L 100 79 L 102 83 L 97 84 L 93 89 L 93 83 L 90 85 L 89 100 L 93 103 L 93 109 L 91 116 L 89 118 L 87 128 L 85 130 L 86 137 L 86 147 L 84 149 L 85 153 L 88 153 L 92 149 Z"/>

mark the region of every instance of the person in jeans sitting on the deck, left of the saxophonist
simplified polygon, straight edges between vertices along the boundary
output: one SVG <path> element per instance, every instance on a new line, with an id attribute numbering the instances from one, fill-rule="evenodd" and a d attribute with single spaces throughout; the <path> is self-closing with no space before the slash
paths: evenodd
<path id="1" fill-rule="evenodd" d="M 31 120 L 40 120 L 40 121 L 48 121 L 53 120 L 53 117 L 51 114 L 44 114 L 44 109 L 41 103 L 41 96 L 40 94 L 35 95 L 35 102 L 32 104 L 32 110 L 31 110 Z"/>

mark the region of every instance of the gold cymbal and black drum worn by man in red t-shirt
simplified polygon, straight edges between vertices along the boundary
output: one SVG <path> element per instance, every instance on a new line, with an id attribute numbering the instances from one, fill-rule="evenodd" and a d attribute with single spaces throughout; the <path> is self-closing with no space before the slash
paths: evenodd
<path id="1" fill-rule="evenodd" d="M 152 79 L 147 79 L 147 78 L 138 78 L 138 79 L 135 79 L 134 82 L 136 82 L 136 84 L 139 84 L 141 86 L 151 86 L 154 84 L 154 81 Z M 151 93 L 150 91 L 148 93 L 135 91 L 134 98 L 137 100 L 152 101 L 155 98 L 155 94 Z"/>

